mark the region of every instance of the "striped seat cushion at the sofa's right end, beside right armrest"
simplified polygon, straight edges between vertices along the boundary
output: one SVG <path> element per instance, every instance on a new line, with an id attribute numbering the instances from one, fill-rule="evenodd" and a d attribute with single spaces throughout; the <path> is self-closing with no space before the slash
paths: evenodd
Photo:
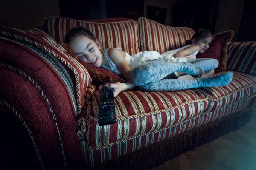
<path id="1" fill-rule="evenodd" d="M 231 103 L 255 96 L 256 77 L 233 72 L 232 82 L 227 86 L 198 88 L 196 90 L 212 101 L 212 105 L 207 108 L 207 112 L 211 112 Z"/>

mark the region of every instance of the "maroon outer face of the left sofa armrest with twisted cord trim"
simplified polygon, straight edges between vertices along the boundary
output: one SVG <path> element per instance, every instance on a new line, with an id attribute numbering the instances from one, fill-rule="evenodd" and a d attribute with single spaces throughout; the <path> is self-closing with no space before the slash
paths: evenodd
<path id="1" fill-rule="evenodd" d="M 20 121 L 41 169 L 84 168 L 76 105 L 72 100 L 76 91 L 70 92 L 65 82 L 68 79 L 74 84 L 74 75 L 67 74 L 69 69 L 55 62 L 54 66 L 63 68 L 58 72 L 27 48 L 1 41 L 0 45 L 4 47 L 0 50 L 0 113 L 12 115 L 6 122 L 16 127 L 15 122 Z M 9 129 L 13 128 L 5 130 Z M 2 138 L 10 140 L 7 136 Z M 24 147 L 20 141 L 16 139 Z M 29 153 L 20 154 L 26 157 Z"/>

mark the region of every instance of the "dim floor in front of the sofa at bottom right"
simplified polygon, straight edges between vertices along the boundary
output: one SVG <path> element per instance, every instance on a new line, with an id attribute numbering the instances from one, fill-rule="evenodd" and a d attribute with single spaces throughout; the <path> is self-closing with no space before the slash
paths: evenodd
<path id="1" fill-rule="evenodd" d="M 256 105 L 248 125 L 151 170 L 256 170 Z"/>

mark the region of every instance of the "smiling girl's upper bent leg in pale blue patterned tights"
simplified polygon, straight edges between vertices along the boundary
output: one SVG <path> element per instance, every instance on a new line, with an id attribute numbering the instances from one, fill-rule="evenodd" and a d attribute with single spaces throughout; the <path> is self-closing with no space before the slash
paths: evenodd
<path id="1" fill-rule="evenodd" d="M 175 71 L 182 71 L 193 77 L 202 77 L 204 74 L 201 67 L 187 62 L 150 61 L 142 63 L 132 71 L 131 81 L 134 85 L 141 86 L 157 82 Z"/>

